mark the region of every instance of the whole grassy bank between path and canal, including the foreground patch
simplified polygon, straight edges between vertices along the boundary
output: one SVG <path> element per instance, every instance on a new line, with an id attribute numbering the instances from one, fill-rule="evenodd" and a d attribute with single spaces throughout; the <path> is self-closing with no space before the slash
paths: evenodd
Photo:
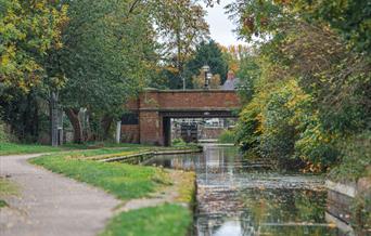
<path id="1" fill-rule="evenodd" d="M 94 156 L 140 153 L 148 148 L 136 146 L 125 149 L 101 148 L 50 154 L 34 158 L 30 162 L 100 187 L 124 201 L 150 197 L 151 194 L 164 192 L 169 187 L 179 193 L 174 201 L 191 201 L 194 189 L 193 173 L 175 174 L 154 167 L 92 160 Z M 177 202 L 118 213 L 110 221 L 102 236 L 186 235 L 192 222 L 192 213 L 190 209 Z"/>

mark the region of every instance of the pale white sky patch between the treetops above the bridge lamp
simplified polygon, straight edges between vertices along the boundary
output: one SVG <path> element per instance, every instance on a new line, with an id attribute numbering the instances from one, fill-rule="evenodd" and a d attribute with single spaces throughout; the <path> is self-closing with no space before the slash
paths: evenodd
<path id="1" fill-rule="evenodd" d="M 210 37 L 222 45 L 245 44 L 236 39 L 236 35 L 232 31 L 235 28 L 233 22 L 225 13 L 223 8 L 231 2 L 233 0 L 221 0 L 220 4 L 215 4 L 214 8 L 206 8 L 203 4 L 207 11 L 206 22 L 209 24 Z"/>

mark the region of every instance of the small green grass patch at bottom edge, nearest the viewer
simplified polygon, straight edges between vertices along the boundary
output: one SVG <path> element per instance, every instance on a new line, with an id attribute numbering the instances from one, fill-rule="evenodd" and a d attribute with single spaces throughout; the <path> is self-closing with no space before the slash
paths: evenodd
<path id="1" fill-rule="evenodd" d="M 162 205 L 118 214 L 100 236 L 181 236 L 187 235 L 191 222 L 187 208 Z"/>

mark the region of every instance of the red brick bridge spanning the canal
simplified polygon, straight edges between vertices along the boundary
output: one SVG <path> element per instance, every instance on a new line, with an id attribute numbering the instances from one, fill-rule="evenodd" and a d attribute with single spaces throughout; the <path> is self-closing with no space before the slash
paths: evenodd
<path id="1" fill-rule="evenodd" d="M 231 90 L 148 89 L 127 104 L 121 142 L 169 145 L 170 118 L 236 117 L 240 100 Z"/>

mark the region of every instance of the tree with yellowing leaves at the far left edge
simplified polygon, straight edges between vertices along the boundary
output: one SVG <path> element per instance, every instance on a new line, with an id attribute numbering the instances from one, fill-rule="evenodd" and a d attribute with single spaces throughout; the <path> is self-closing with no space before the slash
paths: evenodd
<path id="1" fill-rule="evenodd" d="M 51 51 L 63 47 L 67 6 L 61 1 L 2 0 L 0 8 L 0 106 L 21 140 L 36 141 L 43 130 L 46 91 L 63 75 L 48 69 Z"/>

